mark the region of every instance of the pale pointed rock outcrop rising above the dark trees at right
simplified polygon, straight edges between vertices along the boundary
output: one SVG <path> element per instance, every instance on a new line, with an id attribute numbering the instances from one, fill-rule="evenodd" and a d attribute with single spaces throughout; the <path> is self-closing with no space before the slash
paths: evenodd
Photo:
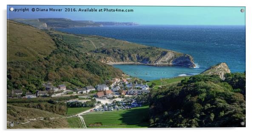
<path id="1" fill-rule="evenodd" d="M 225 73 L 230 73 L 230 69 L 228 68 L 228 65 L 224 62 L 216 64 L 210 68 L 208 68 L 207 70 L 205 70 L 204 72 L 202 72 L 201 74 L 206 74 L 206 75 L 219 75 L 219 77 L 224 80 L 225 77 Z"/>

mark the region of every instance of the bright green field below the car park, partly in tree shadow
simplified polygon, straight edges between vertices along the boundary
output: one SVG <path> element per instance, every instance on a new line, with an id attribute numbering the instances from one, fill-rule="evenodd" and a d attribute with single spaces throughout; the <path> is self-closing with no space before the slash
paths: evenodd
<path id="1" fill-rule="evenodd" d="M 148 116 L 148 106 L 83 115 L 88 128 L 143 128 L 148 127 Z"/>

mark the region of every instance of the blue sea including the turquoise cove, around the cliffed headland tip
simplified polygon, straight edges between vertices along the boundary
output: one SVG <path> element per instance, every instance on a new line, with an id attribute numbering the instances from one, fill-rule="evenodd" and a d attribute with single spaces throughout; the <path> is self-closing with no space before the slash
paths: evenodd
<path id="1" fill-rule="evenodd" d="M 195 68 L 113 65 L 128 75 L 148 81 L 196 75 L 220 62 L 226 62 L 233 73 L 245 72 L 245 26 L 243 25 L 139 25 L 57 30 L 105 36 L 193 56 Z"/>

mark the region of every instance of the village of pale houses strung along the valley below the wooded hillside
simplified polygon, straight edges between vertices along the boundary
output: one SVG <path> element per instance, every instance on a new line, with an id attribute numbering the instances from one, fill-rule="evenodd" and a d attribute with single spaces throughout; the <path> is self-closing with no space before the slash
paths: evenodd
<path id="1" fill-rule="evenodd" d="M 60 97 L 70 95 L 93 95 L 95 98 L 111 99 L 115 97 L 140 95 L 143 93 L 149 93 L 150 89 L 147 84 L 143 84 L 142 81 L 138 84 L 137 81 L 128 82 L 127 79 L 114 78 L 111 80 L 111 84 L 98 84 L 95 87 L 88 85 L 83 88 L 68 89 L 65 84 L 60 84 L 55 87 L 51 82 L 42 84 L 45 90 L 37 90 L 34 94 L 26 92 L 25 95 L 22 90 L 12 90 L 12 98 L 40 98 L 40 97 Z"/>

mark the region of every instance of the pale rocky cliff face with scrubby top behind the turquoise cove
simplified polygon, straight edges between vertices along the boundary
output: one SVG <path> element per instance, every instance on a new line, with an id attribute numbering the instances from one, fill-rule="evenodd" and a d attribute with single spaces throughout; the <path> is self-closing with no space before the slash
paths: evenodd
<path id="1" fill-rule="evenodd" d="M 106 64 L 146 64 L 152 66 L 184 66 L 196 67 L 193 57 L 156 47 L 139 49 L 98 49 L 94 53 L 103 53 L 107 56 L 97 55 L 97 59 Z"/>

